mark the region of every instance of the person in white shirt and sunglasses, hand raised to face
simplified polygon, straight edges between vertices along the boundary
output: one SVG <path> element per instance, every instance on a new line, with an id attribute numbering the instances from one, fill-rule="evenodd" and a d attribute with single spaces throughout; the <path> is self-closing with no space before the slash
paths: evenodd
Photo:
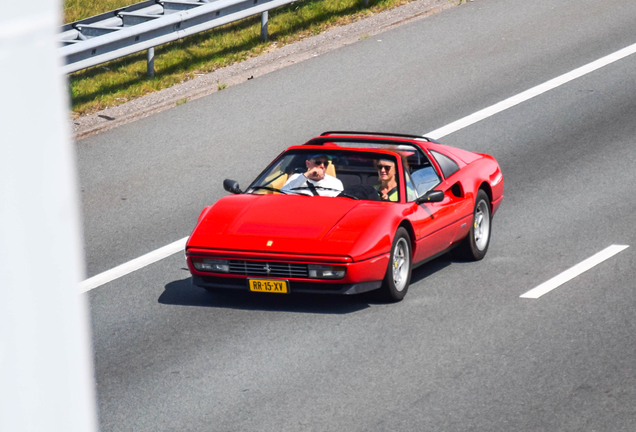
<path id="1" fill-rule="evenodd" d="M 305 164 L 307 171 L 293 174 L 282 187 L 283 192 L 304 195 L 337 196 L 344 189 L 342 182 L 327 174 L 331 156 L 325 154 L 309 155 Z"/>

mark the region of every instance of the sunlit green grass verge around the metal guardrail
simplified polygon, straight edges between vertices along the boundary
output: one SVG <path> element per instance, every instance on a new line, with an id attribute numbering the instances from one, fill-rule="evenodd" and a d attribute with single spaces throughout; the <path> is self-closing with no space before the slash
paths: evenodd
<path id="1" fill-rule="evenodd" d="M 75 116 L 119 105 L 195 78 L 199 74 L 258 56 L 322 31 L 412 0 L 301 0 L 270 11 L 269 41 L 260 40 L 260 15 L 155 48 L 155 77 L 146 75 L 139 53 L 69 76 Z M 450 0 L 449 0 L 450 1 Z M 65 0 L 67 22 L 136 3 L 130 0 Z M 225 88 L 218 84 L 218 89 Z"/>

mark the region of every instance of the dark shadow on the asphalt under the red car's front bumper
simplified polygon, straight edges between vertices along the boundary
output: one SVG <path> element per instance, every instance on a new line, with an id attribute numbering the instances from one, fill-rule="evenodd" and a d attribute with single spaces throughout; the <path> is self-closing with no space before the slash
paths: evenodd
<path id="1" fill-rule="evenodd" d="M 367 309 L 372 303 L 379 303 L 374 300 L 373 293 L 355 296 L 304 293 L 276 295 L 242 290 L 219 290 L 210 293 L 193 286 L 191 278 L 167 284 L 158 302 L 178 306 L 317 314 L 349 314 Z"/>

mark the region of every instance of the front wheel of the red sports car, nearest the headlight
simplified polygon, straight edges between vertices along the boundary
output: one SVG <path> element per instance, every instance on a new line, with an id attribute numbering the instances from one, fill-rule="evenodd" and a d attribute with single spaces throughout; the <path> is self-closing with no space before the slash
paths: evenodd
<path id="1" fill-rule="evenodd" d="M 398 302 L 404 298 L 411 283 L 411 237 L 402 227 L 395 232 L 391 245 L 389 265 L 382 283 L 382 297 L 389 302 Z"/>

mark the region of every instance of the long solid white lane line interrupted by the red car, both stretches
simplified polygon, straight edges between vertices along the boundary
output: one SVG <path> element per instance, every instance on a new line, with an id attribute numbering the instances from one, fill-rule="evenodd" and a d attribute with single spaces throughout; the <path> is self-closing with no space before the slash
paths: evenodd
<path id="1" fill-rule="evenodd" d="M 620 60 L 624 57 L 627 57 L 628 55 L 634 54 L 636 52 L 636 44 L 634 45 L 630 45 L 627 48 L 623 48 L 622 50 L 616 51 L 613 54 L 610 54 L 606 57 L 603 57 L 599 60 L 596 60 L 592 63 L 589 63 L 585 66 L 582 66 L 578 69 L 573 70 L 572 72 L 569 72 L 565 75 L 561 75 L 558 78 L 554 78 L 553 80 L 550 80 L 548 82 L 546 82 L 545 84 L 541 84 L 538 85 L 536 87 L 531 88 L 530 90 L 526 90 L 523 93 L 518 94 L 517 96 L 513 96 L 511 98 L 508 98 L 502 102 L 499 102 L 495 105 L 492 105 L 489 108 L 485 108 L 481 111 L 476 112 L 475 114 L 469 115 L 467 117 L 464 117 L 463 119 L 457 120 L 449 125 L 446 125 L 444 127 L 441 127 L 439 129 L 436 129 L 432 132 L 429 132 L 427 134 L 425 134 L 425 136 L 429 137 L 429 138 L 433 138 L 433 139 L 438 139 L 441 138 L 443 136 L 449 135 L 453 132 L 456 132 L 462 128 L 465 128 L 467 126 L 470 126 L 474 123 L 477 123 L 480 120 L 483 120 L 487 117 L 493 116 L 505 109 L 508 109 L 510 107 L 513 107 L 517 104 L 520 104 L 523 101 L 526 101 L 530 98 L 533 98 L 541 93 L 545 93 L 548 90 L 551 90 L 555 87 L 558 87 L 562 84 L 567 83 L 568 81 L 572 81 L 575 78 L 579 78 L 587 73 L 590 73 L 592 71 L 595 71 L 596 69 L 599 69 L 603 66 L 606 66 L 610 63 L 613 63 L 617 60 Z M 186 237 L 187 239 L 187 237 Z M 107 282 L 110 282 L 112 280 L 115 280 L 121 276 L 127 275 L 128 273 L 131 273 L 135 270 L 139 270 L 142 267 L 145 267 L 148 264 L 152 264 L 156 261 L 159 261 L 163 258 L 166 258 L 170 255 L 173 255 L 181 250 L 183 250 L 185 248 L 185 241 L 186 239 L 181 239 L 177 242 L 174 242 L 172 244 L 169 244 L 168 246 L 164 246 L 160 249 L 157 249 L 154 252 L 150 252 L 142 257 L 136 258 L 128 263 L 122 264 L 118 267 L 115 267 L 112 270 L 108 270 L 104 273 L 100 273 L 96 276 L 93 276 L 90 279 L 87 279 L 85 281 L 83 281 L 80 284 L 81 287 L 81 292 L 87 292 L 90 291 L 94 288 L 97 288 L 100 285 L 103 285 Z M 177 244 L 182 244 L 182 246 L 177 249 L 176 246 Z M 172 249 L 171 247 L 175 247 L 175 249 Z M 142 264 L 143 261 L 142 259 L 147 257 L 147 256 L 152 256 L 153 259 L 151 261 L 148 261 L 145 264 Z M 135 265 L 131 265 L 135 263 Z M 119 270 L 122 269 L 122 270 Z M 131 269 L 131 270 L 128 270 Z M 106 276 L 104 276 L 106 275 Z"/>

